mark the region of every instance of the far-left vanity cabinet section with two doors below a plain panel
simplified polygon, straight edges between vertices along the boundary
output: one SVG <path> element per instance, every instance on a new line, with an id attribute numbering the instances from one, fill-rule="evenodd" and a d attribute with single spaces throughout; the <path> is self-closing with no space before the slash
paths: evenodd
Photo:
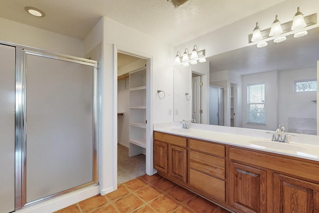
<path id="1" fill-rule="evenodd" d="M 187 183 L 187 138 L 154 132 L 154 168 L 168 179 Z"/>

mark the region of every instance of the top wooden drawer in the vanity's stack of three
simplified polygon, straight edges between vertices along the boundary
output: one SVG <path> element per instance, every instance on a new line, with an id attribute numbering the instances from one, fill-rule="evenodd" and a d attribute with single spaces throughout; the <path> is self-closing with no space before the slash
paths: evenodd
<path id="1" fill-rule="evenodd" d="M 189 147 L 192 150 L 225 157 L 225 146 L 223 145 L 190 139 Z"/>

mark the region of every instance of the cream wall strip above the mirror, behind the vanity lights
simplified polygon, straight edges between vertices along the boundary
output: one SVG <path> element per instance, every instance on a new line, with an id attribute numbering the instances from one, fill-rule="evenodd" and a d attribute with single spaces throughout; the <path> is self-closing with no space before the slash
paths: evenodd
<path id="1" fill-rule="evenodd" d="M 225 27 L 174 46 L 174 53 L 176 54 L 177 51 L 185 48 L 190 49 L 193 45 L 197 45 L 198 49 L 206 49 L 206 57 L 209 57 L 248 45 L 255 45 L 248 43 L 248 35 L 252 33 L 257 21 L 261 29 L 271 27 L 276 14 L 278 14 L 282 23 L 291 21 L 297 12 L 298 6 L 305 15 L 319 13 L 318 0 L 286 0 Z M 310 28 L 318 25 L 319 21 Z"/>

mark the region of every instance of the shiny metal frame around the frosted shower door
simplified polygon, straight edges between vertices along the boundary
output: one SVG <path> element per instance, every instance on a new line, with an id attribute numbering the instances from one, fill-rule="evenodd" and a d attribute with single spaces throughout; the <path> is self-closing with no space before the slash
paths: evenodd
<path id="1" fill-rule="evenodd" d="M 16 46 L 15 64 L 15 210 L 83 188 L 98 185 L 97 172 L 97 62 L 89 59 Z M 26 56 L 36 55 L 93 68 L 93 181 L 29 203 L 26 203 Z"/>

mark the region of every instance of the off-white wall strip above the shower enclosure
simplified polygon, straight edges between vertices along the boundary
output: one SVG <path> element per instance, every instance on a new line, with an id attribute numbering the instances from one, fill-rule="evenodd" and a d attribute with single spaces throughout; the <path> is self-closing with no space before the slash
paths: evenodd
<path id="1" fill-rule="evenodd" d="M 0 17 L 0 40 L 78 57 L 84 56 L 83 41 Z"/>

